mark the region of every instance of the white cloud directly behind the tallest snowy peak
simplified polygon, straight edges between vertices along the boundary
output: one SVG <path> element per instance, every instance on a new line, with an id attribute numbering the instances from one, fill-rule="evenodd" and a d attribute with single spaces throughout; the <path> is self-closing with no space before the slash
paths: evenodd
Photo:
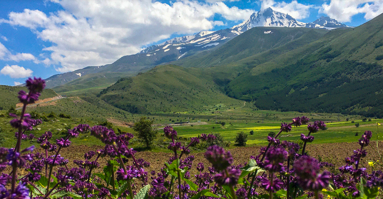
<path id="1" fill-rule="evenodd" d="M 298 3 L 296 0 L 291 1 L 290 3 L 263 0 L 261 3 L 261 10 L 269 7 L 275 11 L 286 13 L 295 19 L 304 19 L 310 15 L 309 9 L 314 7 L 314 5 L 304 5 Z"/>

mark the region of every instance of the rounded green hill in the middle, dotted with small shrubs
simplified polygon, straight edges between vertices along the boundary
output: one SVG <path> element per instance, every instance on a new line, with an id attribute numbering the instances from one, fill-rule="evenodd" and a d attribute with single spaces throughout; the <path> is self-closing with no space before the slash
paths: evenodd
<path id="1" fill-rule="evenodd" d="M 201 70 L 174 65 L 156 66 L 136 77 L 123 78 L 99 97 L 131 113 L 205 111 L 213 106 L 241 106 L 224 95 Z M 214 108 L 215 109 L 215 108 Z"/>

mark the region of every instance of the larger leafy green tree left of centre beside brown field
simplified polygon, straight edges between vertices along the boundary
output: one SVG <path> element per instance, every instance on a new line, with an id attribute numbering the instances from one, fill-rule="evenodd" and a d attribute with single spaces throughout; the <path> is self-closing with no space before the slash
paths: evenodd
<path id="1" fill-rule="evenodd" d="M 146 147 L 151 146 L 157 137 L 158 132 L 152 127 L 153 122 L 153 120 L 146 120 L 145 117 L 141 117 L 133 126 L 133 130 L 137 132 L 137 138 L 145 143 Z"/>

